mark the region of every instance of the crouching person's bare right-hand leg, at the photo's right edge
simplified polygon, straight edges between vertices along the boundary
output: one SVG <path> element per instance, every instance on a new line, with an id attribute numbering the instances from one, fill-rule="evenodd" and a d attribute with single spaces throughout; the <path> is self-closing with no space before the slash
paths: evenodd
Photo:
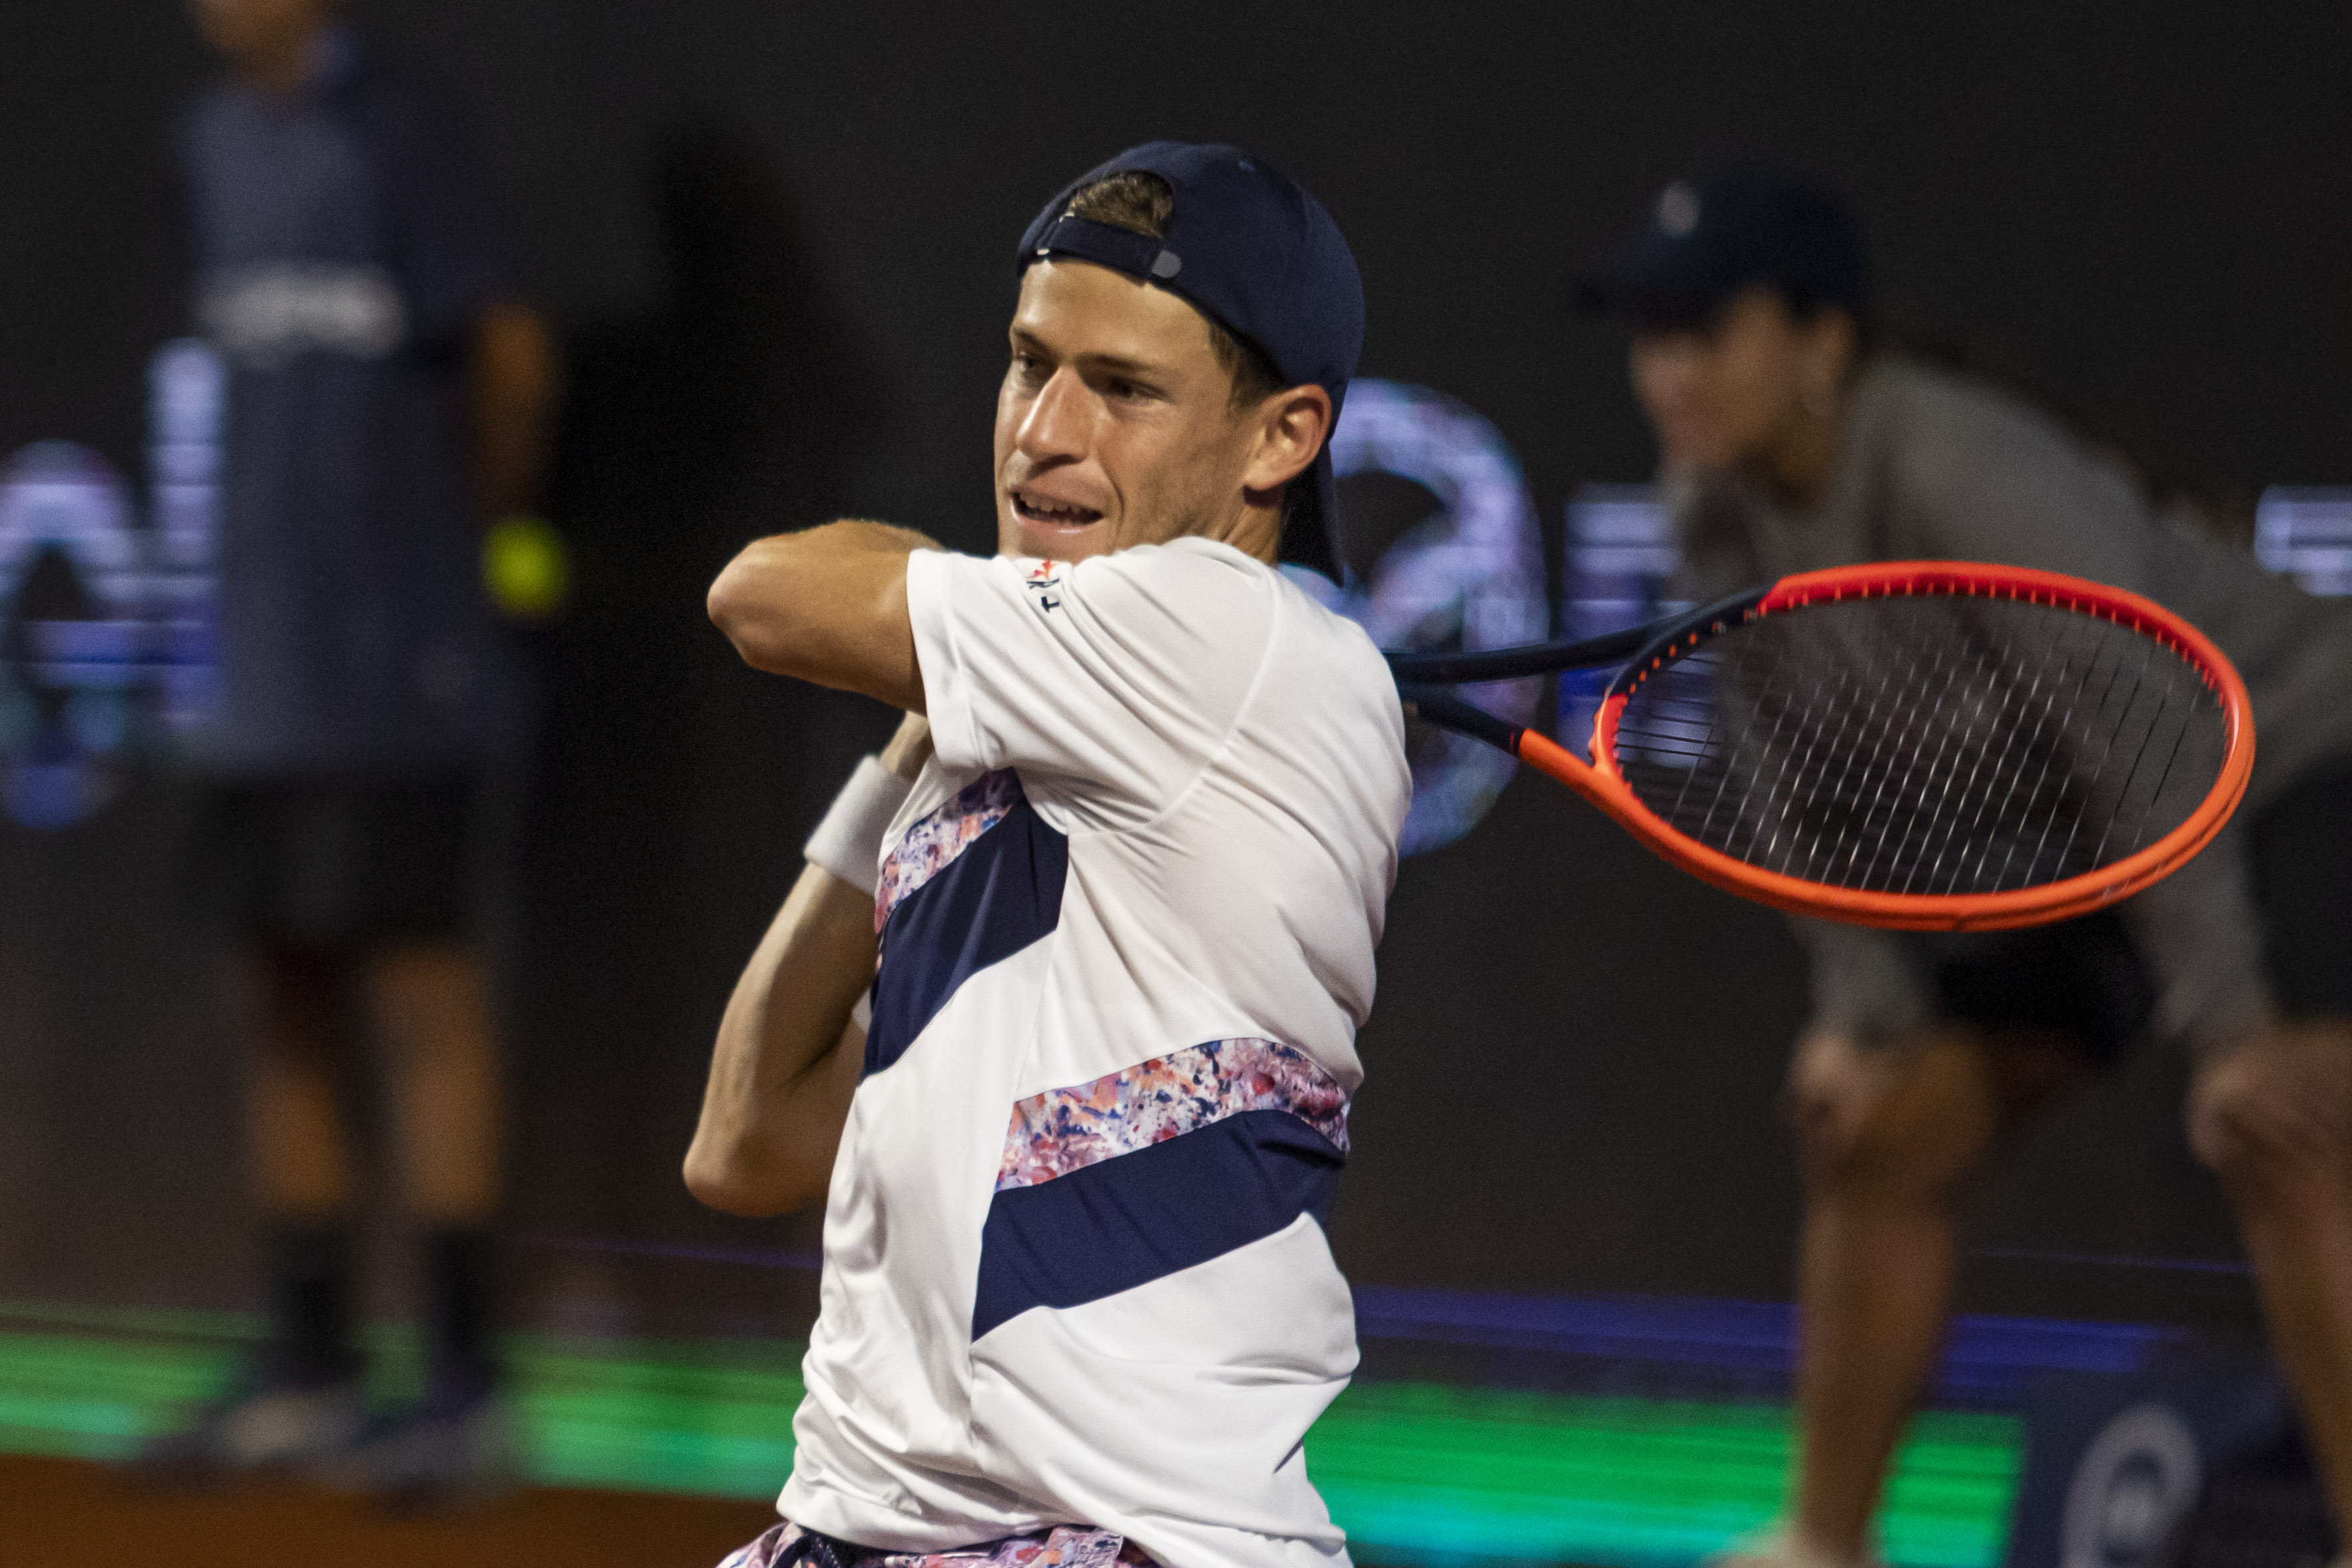
<path id="1" fill-rule="evenodd" d="M 2352 1523 L 2352 1020 L 2279 1025 L 2206 1063 L 2190 1140 L 2237 1206 L 2272 1354 L 2338 1530 Z"/>

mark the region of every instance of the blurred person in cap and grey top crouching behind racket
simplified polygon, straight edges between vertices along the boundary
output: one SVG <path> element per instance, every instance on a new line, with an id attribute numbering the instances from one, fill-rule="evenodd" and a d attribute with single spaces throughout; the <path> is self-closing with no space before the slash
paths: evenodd
<path id="1" fill-rule="evenodd" d="M 2239 825 L 2114 912 L 1987 936 L 1797 922 L 1802 1467 L 1785 1530 L 1726 1561 L 1863 1561 L 1950 1312 L 1962 1178 L 2143 1039 L 2194 1058 L 2192 1147 L 2352 1521 L 2352 607 L 2265 574 L 2037 400 L 1886 343 L 1858 226 L 1804 179 L 1675 181 L 1585 296 L 1632 331 L 1684 597 L 1872 559 L 2065 571 L 2209 632 L 2258 731 Z"/>

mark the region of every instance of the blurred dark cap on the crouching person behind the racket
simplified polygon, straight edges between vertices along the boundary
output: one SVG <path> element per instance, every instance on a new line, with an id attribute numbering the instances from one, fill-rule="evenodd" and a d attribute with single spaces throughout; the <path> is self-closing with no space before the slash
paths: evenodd
<path id="1" fill-rule="evenodd" d="M 1809 313 L 1870 306 L 1863 230 L 1825 186 L 1759 165 L 1722 165 L 1661 190 L 1642 226 L 1578 289 L 1588 310 L 1635 327 L 1705 327 L 1745 289 Z"/>

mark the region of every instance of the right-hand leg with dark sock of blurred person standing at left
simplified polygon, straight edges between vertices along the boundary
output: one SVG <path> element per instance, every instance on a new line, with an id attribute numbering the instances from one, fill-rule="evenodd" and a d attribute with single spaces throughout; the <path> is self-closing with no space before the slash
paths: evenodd
<path id="1" fill-rule="evenodd" d="M 501 1199 L 506 1079 L 489 976 L 456 940 L 402 943 L 367 964 L 386 1048 L 402 1187 L 426 1232 L 428 1403 L 496 1380 L 492 1220 Z"/>

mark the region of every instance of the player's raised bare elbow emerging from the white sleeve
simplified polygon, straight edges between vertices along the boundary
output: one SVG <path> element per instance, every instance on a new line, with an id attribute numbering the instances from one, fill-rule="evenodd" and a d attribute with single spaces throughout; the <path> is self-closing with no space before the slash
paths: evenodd
<path id="1" fill-rule="evenodd" d="M 880 522 L 760 538 L 710 585 L 710 621 L 755 670 L 922 712 L 906 559 L 936 548 Z"/>

